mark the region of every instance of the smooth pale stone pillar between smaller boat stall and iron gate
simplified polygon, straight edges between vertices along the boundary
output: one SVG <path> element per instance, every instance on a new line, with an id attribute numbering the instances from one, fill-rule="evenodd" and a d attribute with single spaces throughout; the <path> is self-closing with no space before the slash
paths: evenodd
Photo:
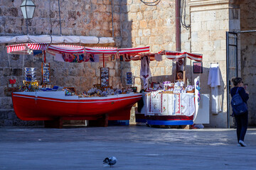
<path id="1" fill-rule="evenodd" d="M 203 54 L 203 74 L 201 76 L 201 93 L 210 94 L 208 74 L 211 63 L 220 67 L 219 95 L 222 108 L 218 114 L 211 112 L 210 126 L 226 128 L 227 92 L 226 92 L 226 31 L 240 29 L 239 8 L 231 1 L 188 1 L 191 6 L 191 51 Z M 195 75 L 196 76 L 196 75 Z"/>

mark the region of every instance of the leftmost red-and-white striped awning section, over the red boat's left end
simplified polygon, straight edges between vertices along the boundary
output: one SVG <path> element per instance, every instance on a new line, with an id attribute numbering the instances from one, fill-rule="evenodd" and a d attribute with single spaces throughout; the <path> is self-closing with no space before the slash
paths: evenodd
<path id="1" fill-rule="evenodd" d="M 26 43 L 18 45 L 7 45 L 7 53 L 11 54 L 28 54 L 28 50 L 46 50 L 47 44 L 41 43 Z"/>

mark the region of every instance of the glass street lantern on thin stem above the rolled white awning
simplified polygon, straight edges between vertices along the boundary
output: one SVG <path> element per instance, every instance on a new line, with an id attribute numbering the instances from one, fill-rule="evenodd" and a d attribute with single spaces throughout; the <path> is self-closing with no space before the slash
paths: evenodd
<path id="1" fill-rule="evenodd" d="M 23 0 L 20 7 L 21 7 L 23 17 L 26 19 L 26 27 L 27 27 L 27 34 L 28 34 L 28 19 L 33 18 L 33 13 L 35 12 L 36 5 L 33 4 L 33 1 L 31 0 Z"/>

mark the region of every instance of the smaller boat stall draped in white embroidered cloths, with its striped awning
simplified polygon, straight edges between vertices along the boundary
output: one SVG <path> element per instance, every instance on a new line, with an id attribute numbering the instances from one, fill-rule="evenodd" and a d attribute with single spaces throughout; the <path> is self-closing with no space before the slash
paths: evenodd
<path id="1" fill-rule="evenodd" d="M 185 57 L 200 62 L 202 55 L 188 52 L 159 52 L 168 59 L 178 60 Z M 193 125 L 198 115 L 201 94 L 199 77 L 194 84 L 184 86 L 183 80 L 175 83 L 164 81 L 160 86 L 152 85 L 142 95 L 135 113 L 137 123 L 147 125 Z M 202 103 L 201 103 L 202 107 Z"/>

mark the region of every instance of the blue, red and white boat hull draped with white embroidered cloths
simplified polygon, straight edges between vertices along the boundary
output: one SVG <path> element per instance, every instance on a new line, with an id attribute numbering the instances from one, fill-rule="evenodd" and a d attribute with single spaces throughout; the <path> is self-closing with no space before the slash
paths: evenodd
<path id="1" fill-rule="evenodd" d="M 196 112 L 195 94 L 169 91 L 145 91 L 143 107 L 136 113 L 137 123 L 148 125 L 193 125 Z"/>

